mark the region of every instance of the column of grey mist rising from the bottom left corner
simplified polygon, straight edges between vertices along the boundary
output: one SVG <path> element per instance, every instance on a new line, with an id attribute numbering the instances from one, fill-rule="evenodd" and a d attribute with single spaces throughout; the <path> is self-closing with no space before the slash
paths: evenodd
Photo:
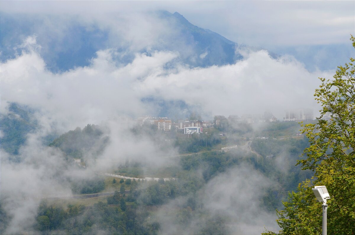
<path id="1" fill-rule="evenodd" d="M 1 152 L 1 206 L 11 218 L 5 233 L 36 234 L 28 228 L 35 223 L 39 198 L 71 195 L 64 176 L 72 174 L 72 169 L 65 167 L 60 152 L 42 146 L 35 135 L 30 135 L 20 150 L 21 163 L 9 157 Z"/>

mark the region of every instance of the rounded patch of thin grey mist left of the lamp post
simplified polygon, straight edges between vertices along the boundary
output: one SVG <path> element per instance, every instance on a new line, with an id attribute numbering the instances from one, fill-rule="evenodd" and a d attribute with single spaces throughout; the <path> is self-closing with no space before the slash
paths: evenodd
<path id="1" fill-rule="evenodd" d="M 260 234 L 264 227 L 278 230 L 274 213 L 265 211 L 262 197 L 275 182 L 250 165 L 239 165 L 208 182 L 202 201 L 211 214 L 230 218 L 235 234 Z"/>

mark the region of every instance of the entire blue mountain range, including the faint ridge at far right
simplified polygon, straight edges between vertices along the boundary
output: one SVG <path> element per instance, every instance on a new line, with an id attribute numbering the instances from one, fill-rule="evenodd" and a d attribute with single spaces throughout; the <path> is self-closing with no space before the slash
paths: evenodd
<path id="1" fill-rule="evenodd" d="M 22 48 L 19 46 L 26 37 L 33 35 L 42 48 L 40 55 L 47 69 L 52 72 L 64 72 L 75 67 L 89 66 L 98 50 L 108 48 L 116 48 L 121 54 L 120 58 L 115 58 L 121 65 L 132 62 L 136 53 L 149 55 L 154 49 L 177 51 L 180 56 L 174 62 L 183 62 L 190 67 L 233 64 L 243 59 L 238 52 L 240 49 L 247 51 L 263 49 L 232 42 L 209 29 L 195 26 L 178 12 L 153 11 L 148 14 L 155 19 L 147 22 L 152 24 L 153 29 L 156 20 L 160 20 L 163 22 L 162 25 L 170 27 L 166 29 L 169 32 L 163 35 L 164 38 L 158 37 L 154 45 L 130 51 L 127 42 L 122 44 L 120 41 L 122 38 L 113 39 L 109 27 L 106 26 L 100 27 L 93 23 L 88 27 L 86 23 L 78 21 L 75 17 L 70 19 L 66 17 L 63 21 L 62 17 L 51 15 L 50 19 L 53 23 L 51 26 L 60 28 L 60 30 L 51 30 L 46 23 L 48 19 L 45 20 L 43 16 L 34 14 L 20 16 L 1 12 L 0 61 L 5 62 L 21 54 Z M 62 27 L 63 23 L 65 27 Z M 293 55 L 310 71 L 335 70 L 339 63 L 342 64 L 342 61 L 345 63 L 347 58 L 352 56 L 352 47 L 349 44 L 275 45 L 268 48 L 268 51 L 273 58 L 278 57 L 274 53 Z"/>

